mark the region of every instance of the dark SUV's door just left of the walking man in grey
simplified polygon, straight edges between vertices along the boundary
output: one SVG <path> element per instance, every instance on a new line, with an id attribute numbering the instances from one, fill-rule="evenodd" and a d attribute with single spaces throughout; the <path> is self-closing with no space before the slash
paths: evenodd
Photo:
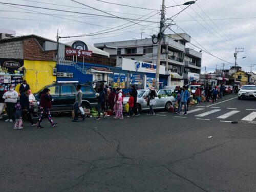
<path id="1" fill-rule="evenodd" d="M 75 103 L 76 89 L 73 85 L 61 86 L 60 110 L 72 111 Z"/>

